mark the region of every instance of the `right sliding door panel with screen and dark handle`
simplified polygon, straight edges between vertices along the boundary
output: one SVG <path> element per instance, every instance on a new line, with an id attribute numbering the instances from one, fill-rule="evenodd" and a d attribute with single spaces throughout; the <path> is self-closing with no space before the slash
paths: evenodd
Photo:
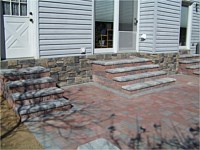
<path id="1" fill-rule="evenodd" d="M 137 1 L 119 0 L 119 50 L 136 50 Z"/>

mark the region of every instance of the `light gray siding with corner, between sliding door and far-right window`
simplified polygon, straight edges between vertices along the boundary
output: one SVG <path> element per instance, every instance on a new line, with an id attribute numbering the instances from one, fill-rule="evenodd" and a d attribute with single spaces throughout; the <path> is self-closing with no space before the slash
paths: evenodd
<path id="1" fill-rule="evenodd" d="M 141 0 L 139 50 L 171 53 L 179 50 L 181 0 Z M 140 38 L 139 37 L 139 38 Z"/>

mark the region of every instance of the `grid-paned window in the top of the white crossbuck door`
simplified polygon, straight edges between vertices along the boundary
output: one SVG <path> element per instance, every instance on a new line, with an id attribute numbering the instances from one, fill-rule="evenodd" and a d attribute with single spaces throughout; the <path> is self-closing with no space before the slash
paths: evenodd
<path id="1" fill-rule="evenodd" d="M 2 0 L 3 14 L 27 16 L 27 0 Z"/>

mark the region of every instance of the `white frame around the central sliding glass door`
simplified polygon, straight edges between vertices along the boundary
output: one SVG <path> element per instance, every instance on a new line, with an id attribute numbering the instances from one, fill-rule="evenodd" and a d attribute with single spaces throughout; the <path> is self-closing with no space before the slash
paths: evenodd
<path id="1" fill-rule="evenodd" d="M 93 42 L 93 54 L 94 53 L 117 53 L 119 51 L 119 0 L 114 0 L 114 20 L 113 20 L 113 48 L 95 48 L 95 6 L 92 6 L 92 14 L 93 14 L 93 35 L 92 35 L 92 42 Z M 140 1 L 138 0 L 138 13 L 137 13 L 137 35 L 136 35 L 136 52 L 139 51 L 139 17 L 140 17 Z"/>

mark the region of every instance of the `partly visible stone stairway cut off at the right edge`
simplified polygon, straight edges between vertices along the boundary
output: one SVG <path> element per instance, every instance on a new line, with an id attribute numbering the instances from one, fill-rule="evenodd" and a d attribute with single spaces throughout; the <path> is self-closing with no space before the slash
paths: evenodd
<path id="1" fill-rule="evenodd" d="M 200 55 L 180 55 L 179 58 L 179 73 L 186 75 L 200 75 Z"/>

